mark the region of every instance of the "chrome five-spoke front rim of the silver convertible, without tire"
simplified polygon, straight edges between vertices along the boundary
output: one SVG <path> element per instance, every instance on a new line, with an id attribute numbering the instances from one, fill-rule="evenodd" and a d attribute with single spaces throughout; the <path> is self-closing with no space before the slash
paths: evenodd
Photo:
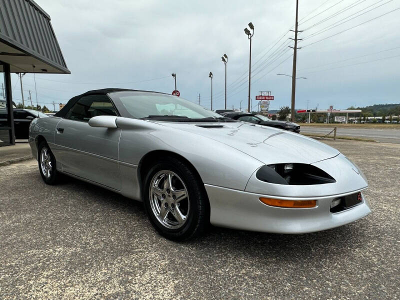
<path id="1" fill-rule="evenodd" d="M 189 196 L 183 181 L 174 172 L 161 170 L 150 181 L 151 210 L 157 220 L 169 229 L 177 229 L 189 214 Z"/>

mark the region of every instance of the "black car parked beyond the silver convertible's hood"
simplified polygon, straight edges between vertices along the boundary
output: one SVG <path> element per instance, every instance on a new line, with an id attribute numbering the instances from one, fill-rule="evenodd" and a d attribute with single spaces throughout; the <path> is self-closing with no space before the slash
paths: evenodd
<path id="1" fill-rule="evenodd" d="M 221 113 L 224 117 L 230 117 L 235 120 L 271 126 L 279 129 L 285 129 L 293 132 L 300 132 L 300 126 L 296 123 L 287 121 L 273 121 L 262 114 L 246 113 L 240 111 L 229 111 Z"/>

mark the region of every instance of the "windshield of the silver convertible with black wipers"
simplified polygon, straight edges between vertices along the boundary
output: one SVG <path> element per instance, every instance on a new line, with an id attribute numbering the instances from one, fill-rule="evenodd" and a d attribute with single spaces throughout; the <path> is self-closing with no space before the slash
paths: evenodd
<path id="1" fill-rule="evenodd" d="M 108 94 L 121 116 L 182 121 L 184 119 L 223 118 L 186 99 L 153 92 L 119 91 Z"/>

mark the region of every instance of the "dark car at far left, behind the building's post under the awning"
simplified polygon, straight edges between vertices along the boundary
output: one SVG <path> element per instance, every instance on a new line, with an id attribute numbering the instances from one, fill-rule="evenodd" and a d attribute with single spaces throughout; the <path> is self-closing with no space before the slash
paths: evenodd
<path id="1" fill-rule="evenodd" d="M 28 138 L 29 134 L 29 124 L 32 119 L 36 117 L 47 117 L 43 112 L 32 110 L 32 109 L 22 109 L 22 108 L 12 108 L 14 117 L 14 132 L 16 139 Z M 7 110 L 6 108 L 0 108 L 0 126 L 7 125 Z"/>

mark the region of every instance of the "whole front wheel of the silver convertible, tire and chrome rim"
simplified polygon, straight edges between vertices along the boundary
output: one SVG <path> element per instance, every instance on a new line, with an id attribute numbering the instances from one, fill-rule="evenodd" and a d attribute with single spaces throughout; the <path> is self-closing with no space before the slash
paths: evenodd
<path id="1" fill-rule="evenodd" d="M 166 157 L 148 170 L 143 197 L 152 225 L 169 239 L 197 236 L 209 223 L 203 183 L 191 167 L 175 157 Z"/>

